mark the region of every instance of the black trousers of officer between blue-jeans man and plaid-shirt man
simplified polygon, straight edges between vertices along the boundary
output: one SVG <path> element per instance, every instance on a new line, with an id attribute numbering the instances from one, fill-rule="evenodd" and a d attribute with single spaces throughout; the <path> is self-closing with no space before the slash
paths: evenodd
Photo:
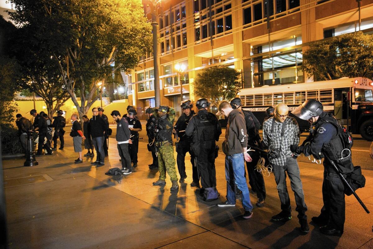
<path id="1" fill-rule="evenodd" d="M 253 161 L 246 162 L 247 173 L 251 190 L 255 191 L 258 199 L 266 199 L 266 186 L 264 185 L 263 175 L 255 168 L 260 158 L 260 153 L 249 152 Z"/>

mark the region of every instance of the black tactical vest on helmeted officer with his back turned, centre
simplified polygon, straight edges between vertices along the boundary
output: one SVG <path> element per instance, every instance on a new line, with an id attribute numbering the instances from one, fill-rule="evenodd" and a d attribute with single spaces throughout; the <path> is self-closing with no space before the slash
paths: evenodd
<path id="1" fill-rule="evenodd" d="M 215 115 L 210 112 L 206 116 L 197 113 L 193 118 L 197 121 L 195 132 L 193 132 L 193 142 L 214 141 L 217 134 Z"/>

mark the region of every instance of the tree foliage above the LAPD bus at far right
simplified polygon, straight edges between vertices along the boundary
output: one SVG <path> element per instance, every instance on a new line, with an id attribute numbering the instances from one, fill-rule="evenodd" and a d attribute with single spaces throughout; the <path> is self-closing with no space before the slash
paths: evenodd
<path id="1" fill-rule="evenodd" d="M 314 80 L 373 78 L 373 35 L 363 32 L 318 41 L 303 53 L 301 70 Z"/>

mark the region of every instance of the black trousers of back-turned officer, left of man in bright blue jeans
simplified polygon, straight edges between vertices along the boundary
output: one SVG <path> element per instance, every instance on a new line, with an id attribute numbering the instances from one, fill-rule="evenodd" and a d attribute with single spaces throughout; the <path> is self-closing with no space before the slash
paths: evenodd
<path id="1" fill-rule="evenodd" d="M 200 155 L 197 156 L 197 168 L 204 189 L 216 187 L 215 141 L 201 141 Z"/>

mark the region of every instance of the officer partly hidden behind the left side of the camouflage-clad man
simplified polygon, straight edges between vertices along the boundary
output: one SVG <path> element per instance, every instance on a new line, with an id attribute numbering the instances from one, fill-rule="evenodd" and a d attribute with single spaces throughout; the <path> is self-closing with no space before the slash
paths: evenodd
<path id="1" fill-rule="evenodd" d="M 149 164 L 149 169 L 158 169 L 158 158 L 156 155 L 156 144 L 154 142 L 154 127 L 156 125 L 156 117 L 153 113 L 153 108 L 150 106 L 145 107 L 145 115 L 146 115 L 146 135 L 148 136 L 148 150 L 151 152 L 151 156 L 153 157 L 153 163 Z"/>

